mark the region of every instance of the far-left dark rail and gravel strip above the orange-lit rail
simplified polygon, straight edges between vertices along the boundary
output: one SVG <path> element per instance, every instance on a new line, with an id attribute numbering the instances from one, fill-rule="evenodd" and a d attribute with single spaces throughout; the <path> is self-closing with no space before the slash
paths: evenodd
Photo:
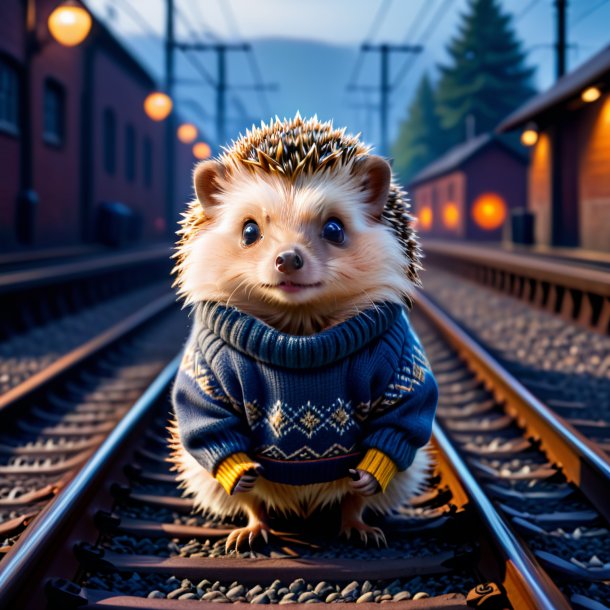
<path id="1" fill-rule="evenodd" d="M 169 254 L 156 246 L 0 274 L 0 408 L 66 353 L 167 295 Z"/>

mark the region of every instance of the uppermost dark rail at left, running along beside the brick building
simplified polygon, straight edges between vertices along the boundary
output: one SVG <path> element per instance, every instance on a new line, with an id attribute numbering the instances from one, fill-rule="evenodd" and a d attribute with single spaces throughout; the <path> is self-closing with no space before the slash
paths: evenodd
<path id="1" fill-rule="evenodd" d="M 146 263 L 162 262 L 169 264 L 170 246 L 164 244 L 155 248 L 147 248 L 137 252 L 121 252 L 107 254 L 84 261 L 58 263 L 37 267 L 36 269 L 11 271 L 0 274 L 0 294 L 11 294 L 33 288 L 72 281 L 92 275 L 102 275 L 108 272 L 127 269 Z"/>

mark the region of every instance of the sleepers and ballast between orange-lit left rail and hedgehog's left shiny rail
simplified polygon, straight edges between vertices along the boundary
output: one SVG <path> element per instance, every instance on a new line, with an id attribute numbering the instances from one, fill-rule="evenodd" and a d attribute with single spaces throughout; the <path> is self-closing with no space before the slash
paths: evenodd
<path id="1" fill-rule="evenodd" d="M 172 300 L 150 305 L 0 410 L 0 566 L 179 349 L 184 316 Z"/>

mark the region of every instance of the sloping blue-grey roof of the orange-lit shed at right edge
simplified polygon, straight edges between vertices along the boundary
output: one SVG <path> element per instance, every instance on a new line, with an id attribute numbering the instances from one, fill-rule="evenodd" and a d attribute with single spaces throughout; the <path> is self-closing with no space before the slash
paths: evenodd
<path id="1" fill-rule="evenodd" d="M 594 55 L 589 61 L 562 76 L 550 89 L 534 96 L 517 108 L 500 125 L 498 131 L 509 131 L 541 114 L 555 109 L 560 104 L 580 95 L 583 89 L 610 77 L 610 45 Z"/>

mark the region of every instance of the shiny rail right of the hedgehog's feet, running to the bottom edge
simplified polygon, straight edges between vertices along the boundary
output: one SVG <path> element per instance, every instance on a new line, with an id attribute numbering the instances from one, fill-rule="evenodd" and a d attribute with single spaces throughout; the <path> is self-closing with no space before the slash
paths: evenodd
<path id="1" fill-rule="evenodd" d="M 442 472 L 458 480 L 485 525 L 494 547 L 505 559 L 503 586 L 519 610 L 569 610 L 570 604 L 546 571 L 524 548 L 480 487 L 438 422 L 433 427 Z M 451 484 L 450 484 L 451 486 Z"/>

